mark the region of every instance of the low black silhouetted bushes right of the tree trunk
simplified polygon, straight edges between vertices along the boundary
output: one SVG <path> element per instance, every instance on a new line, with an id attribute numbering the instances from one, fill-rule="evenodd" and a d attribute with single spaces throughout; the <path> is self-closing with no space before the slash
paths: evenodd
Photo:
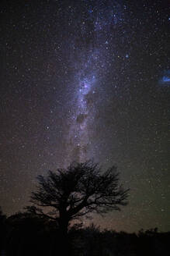
<path id="1" fill-rule="evenodd" d="M 71 229 L 75 256 L 134 256 L 168 255 L 170 232 L 158 233 L 156 229 L 142 234 L 104 230 L 95 225 L 86 229 Z"/>

